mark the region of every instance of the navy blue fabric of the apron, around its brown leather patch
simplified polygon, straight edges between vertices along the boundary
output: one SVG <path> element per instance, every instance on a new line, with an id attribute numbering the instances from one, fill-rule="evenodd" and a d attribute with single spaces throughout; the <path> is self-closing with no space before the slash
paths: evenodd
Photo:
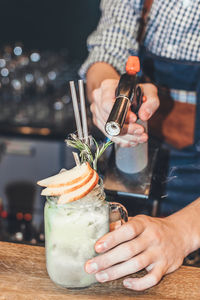
<path id="1" fill-rule="evenodd" d="M 140 60 L 145 77 L 157 86 L 197 92 L 194 144 L 182 150 L 165 142 L 159 145 L 161 168 L 154 178 L 160 179 L 160 214 L 168 215 L 200 196 L 200 62 L 165 59 L 144 47 Z"/>

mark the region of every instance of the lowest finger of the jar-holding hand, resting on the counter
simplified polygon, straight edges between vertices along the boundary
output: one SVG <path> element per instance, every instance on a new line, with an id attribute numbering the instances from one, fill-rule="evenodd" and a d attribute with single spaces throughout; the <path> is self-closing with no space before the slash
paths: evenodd
<path id="1" fill-rule="evenodd" d="M 144 277 L 141 278 L 127 278 L 123 281 L 123 284 L 126 288 L 135 290 L 135 291 L 143 291 L 154 285 L 156 285 L 165 274 L 164 268 L 157 264 L 154 268 Z"/>

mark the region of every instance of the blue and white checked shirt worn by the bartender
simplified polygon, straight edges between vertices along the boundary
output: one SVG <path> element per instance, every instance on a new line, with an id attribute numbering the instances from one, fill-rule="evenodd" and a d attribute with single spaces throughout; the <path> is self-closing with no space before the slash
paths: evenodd
<path id="1" fill-rule="evenodd" d="M 89 56 L 80 69 L 84 77 L 95 62 L 125 72 L 129 55 L 137 55 L 136 41 L 143 0 L 102 0 L 102 16 L 88 38 Z M 144 46 L 152 53 L 176 60 L 200 61 L 200 0 L 154 0 Z M 171 90 L 177 101 L 195 103 L 196 93 Z"/>

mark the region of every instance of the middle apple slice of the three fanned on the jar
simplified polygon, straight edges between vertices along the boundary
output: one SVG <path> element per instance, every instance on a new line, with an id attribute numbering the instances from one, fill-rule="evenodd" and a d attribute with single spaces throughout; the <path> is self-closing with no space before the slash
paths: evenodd
<path id="1" fill-rule="evenodd" d="M 87 174 L 82 180 L 71 184 L 71 185 L 63 185 L 61 184 L 60 186 L 55 186 L 55 187 L 47 187 L 44 189 L 41 193 L 42 196 L 60 196 L 62 194 L 70 193 L 78 188 L 86 185 L 93 177 L 94 175 L 94 170 L 91 168 Z M 52 186 L 52 185 L 51 185 Z"/>

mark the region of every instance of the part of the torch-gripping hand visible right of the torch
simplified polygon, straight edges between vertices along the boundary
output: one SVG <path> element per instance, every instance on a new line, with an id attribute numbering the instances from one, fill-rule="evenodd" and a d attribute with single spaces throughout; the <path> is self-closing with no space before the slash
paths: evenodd
<path id="1" fill-rule="evenodd" d="M 147 121 L 159 107 L 160 101 L 158 98 L 158 90 L 157 87 L 151 83 L 144 83 L 140 86 L 143 90 L 146 101 L 141 105 L 138 114 L 142 121 Z"/>

